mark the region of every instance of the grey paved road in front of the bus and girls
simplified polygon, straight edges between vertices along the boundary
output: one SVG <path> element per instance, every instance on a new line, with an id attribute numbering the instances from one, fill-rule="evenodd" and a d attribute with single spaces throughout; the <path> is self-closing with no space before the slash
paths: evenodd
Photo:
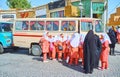
<path id="1" fill-rule="evenodd" d="M 82 67 L 68 66 L 65 62 L 43 63 L 39 56 L 28 55 L 27 50 L 0 54 L 0 77 L 120 77 L 120 45 L 116 56 L 109 56 L 109 69 L 84 74 Z"/>

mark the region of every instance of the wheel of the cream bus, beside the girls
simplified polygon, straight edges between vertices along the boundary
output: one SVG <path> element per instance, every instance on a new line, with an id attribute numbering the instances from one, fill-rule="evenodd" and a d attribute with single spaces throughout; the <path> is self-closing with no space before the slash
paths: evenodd
<path id="1" fill-rule="evenodd" d="M 40 56 L 42 54 L 42 50 L 39 45 L 32 45 L 31 53 L 34 56 Z"/>

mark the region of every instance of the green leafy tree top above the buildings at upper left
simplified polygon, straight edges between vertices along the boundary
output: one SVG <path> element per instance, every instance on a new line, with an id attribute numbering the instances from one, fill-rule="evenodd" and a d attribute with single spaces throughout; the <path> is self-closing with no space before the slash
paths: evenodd
<path id="1" fill-rule="evenodd" d="M 28 0 L 7 0 L 9 8 L 15 9 L 28 9 L 31 8 L 31 3 Z"/>

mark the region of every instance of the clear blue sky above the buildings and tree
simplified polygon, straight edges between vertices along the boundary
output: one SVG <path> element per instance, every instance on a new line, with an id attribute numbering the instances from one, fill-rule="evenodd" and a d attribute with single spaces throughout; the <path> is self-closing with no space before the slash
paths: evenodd
<path id="1" fill-rule="evenodd" d="M 28 1 L 31 2 L 31 5 L 33 7 L 35 7 L 35 6 L 47 4 L 51 0 L 28 0 Z M 116 6 L 117 7 L 120 6 L 120 0 L 108 0 L 108 1 L 109 1 L 108 2 L 108 15 L 110 15 L 116 11 Z M 0 0 L 0 9 L 3 9 L 3 10 L 9 9 L 8 6 L 6 5 L 6 0 Z"/>

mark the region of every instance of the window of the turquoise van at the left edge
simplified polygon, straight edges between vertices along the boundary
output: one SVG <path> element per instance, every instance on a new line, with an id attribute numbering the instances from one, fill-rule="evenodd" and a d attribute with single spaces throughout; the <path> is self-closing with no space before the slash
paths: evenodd
<path id="1" fill-rule="evenodd" d="M 0 32 L 11 32 L 13 24 L 12 23 L 0 23 Z"/>

